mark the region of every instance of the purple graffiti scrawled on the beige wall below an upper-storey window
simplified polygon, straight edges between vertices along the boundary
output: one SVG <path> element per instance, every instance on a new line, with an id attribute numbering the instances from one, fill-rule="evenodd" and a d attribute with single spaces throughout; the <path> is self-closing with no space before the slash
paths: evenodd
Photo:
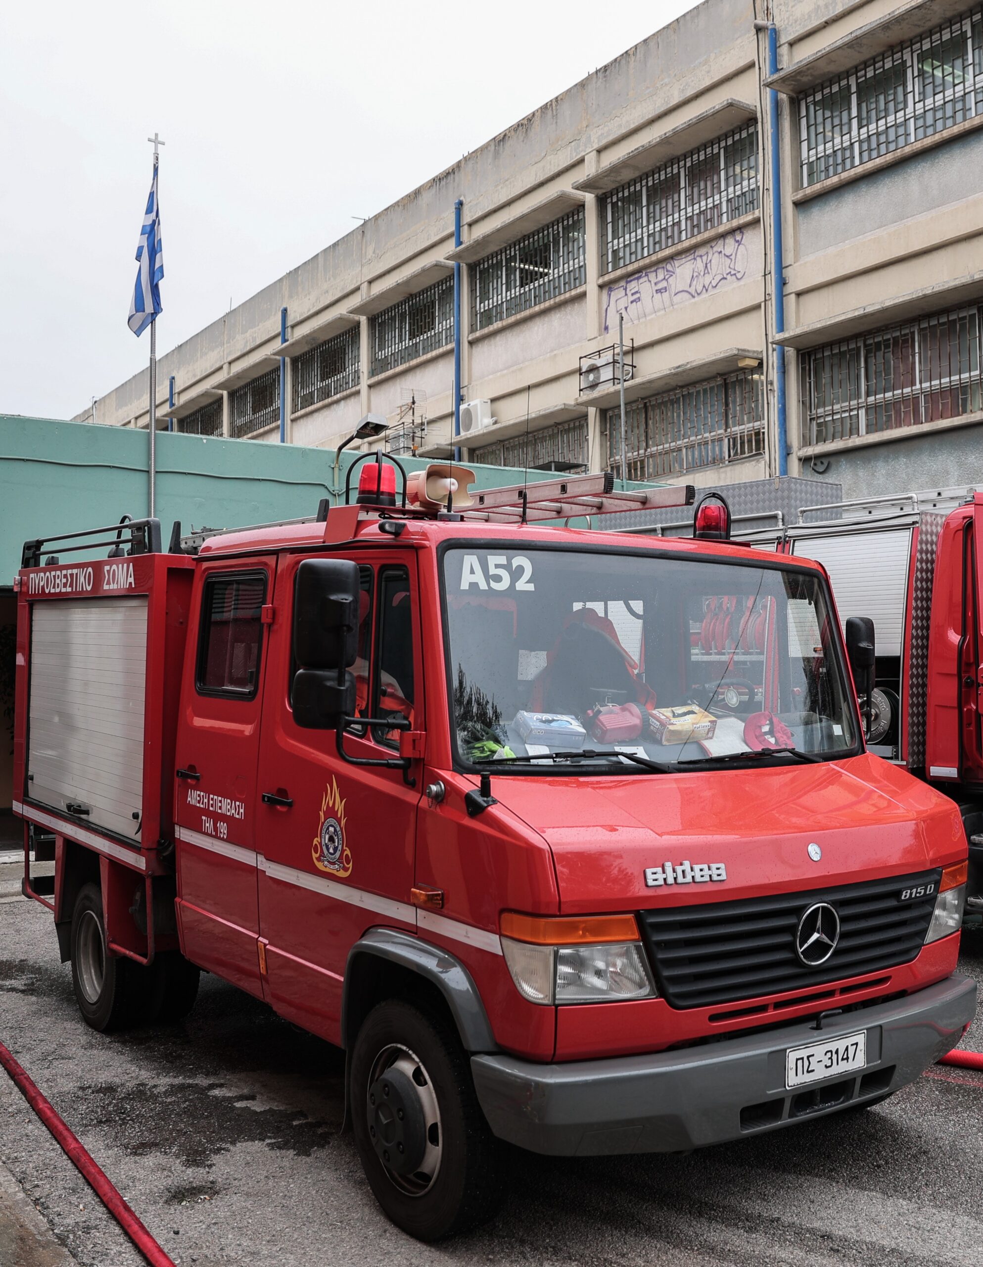
<path id="1" fill-rule="evenodd" d="M 678 304 L 702 299 L 722 286 L 744 281 L 746 275 L 747 246 L 744 229 L 735 229 L 608 286 L 604 331 L 611 333 L 618 323 L 619 313 L 625 313 L 628 324 L 647 321 Z"/>

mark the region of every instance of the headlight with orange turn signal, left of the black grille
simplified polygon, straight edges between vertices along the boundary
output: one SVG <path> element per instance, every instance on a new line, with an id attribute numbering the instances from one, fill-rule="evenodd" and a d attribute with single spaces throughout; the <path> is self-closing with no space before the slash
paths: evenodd
<path id="1" fill-rule="evenodd" d="M 516 988 L 532 1003 L 603 1003 L 656 993 L 633 915 L 538 919 L 509 911 L 502 916 L 502 934 Z M 626 934 L 632 940 L 613 940 Z"/>

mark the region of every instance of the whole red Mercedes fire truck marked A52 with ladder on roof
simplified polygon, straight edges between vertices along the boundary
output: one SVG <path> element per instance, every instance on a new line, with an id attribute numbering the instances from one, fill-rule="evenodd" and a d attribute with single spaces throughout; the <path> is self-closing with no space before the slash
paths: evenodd
<path id="1" fill-rule="evenodd" d="M 204 969 L 341 1045 L 423 1239 L 494 1207 L 502 1142 L 865 1107 L 975 1009 L 959 813 L 866 751 L 823 569 L 711 503 L 695 540 L 552 526 L 692 489 L 470 474 L 374 460 L 312 521 L 32 541 L 18 579 L 24 891 L 85 1020 L 175 1020 Z"/>

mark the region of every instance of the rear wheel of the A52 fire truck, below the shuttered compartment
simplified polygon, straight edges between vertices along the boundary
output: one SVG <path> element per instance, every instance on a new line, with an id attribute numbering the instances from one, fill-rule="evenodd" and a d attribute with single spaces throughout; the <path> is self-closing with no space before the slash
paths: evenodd
<path id="1" fill-rule="evenodd" d="M 84 884 L 72 911 L 72 988 L 86 1025 L 100 1034 L 138 1025 L 146 1016 L 139 964 L 106 950 L 103 895 Z"/>

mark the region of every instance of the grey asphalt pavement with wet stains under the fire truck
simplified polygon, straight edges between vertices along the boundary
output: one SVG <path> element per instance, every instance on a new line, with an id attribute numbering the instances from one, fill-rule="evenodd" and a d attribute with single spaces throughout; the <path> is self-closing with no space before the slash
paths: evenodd
<path id="1" fill-rule="evenodd" d="M 418 1244 L 339 1133 L 338 1050 L 213 977 L 181 1025 L 92 1033 L 51 916 L 11 879 L 0 865 L 0 1040 L 180 1267 L 979 1261 L 983 1076 L 942 1066 L 874 1109 L 688 1157 L 516 1152 L 492 1224 Z M 983 983 L 983 933 L 964 934 L 961 971 Z M 983 1016 L 964 1045 L 983 1050 Z M 3 1267 L 143 1262 L 3 1071 L 0 1163 L 23 1192 L 0 1166 Z"/>

